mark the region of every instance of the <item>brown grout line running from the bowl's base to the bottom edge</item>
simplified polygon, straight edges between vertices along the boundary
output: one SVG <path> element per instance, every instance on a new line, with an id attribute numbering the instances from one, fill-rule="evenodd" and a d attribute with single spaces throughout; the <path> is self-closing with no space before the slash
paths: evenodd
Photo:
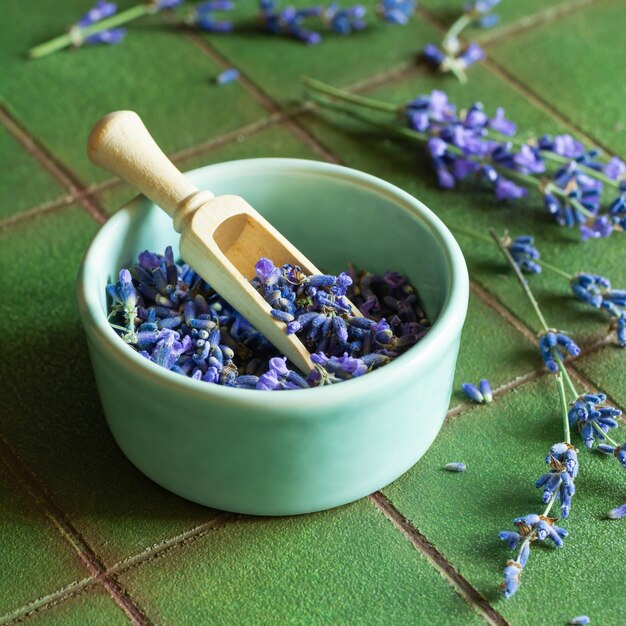
<path id="1" fill-rule="evenodd" d="M 508 622 L 481 593 L 467 581 L 446 557 L 409 521 L 380 491 L 368 496 L 374 506 L 411 542 L 454 590 L 491 626 L 507 626 Z"/>

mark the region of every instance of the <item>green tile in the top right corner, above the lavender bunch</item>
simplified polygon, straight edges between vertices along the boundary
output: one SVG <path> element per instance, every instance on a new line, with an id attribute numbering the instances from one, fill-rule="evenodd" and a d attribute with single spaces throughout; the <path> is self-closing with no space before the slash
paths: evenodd
<path id="1" fill-rule="evenodd" d="M 626 57 L 625 11 L 621 0 L 595 2 L 490 48 L 532 91 L 622 156 L 626 110 L 618 77 Z"/>

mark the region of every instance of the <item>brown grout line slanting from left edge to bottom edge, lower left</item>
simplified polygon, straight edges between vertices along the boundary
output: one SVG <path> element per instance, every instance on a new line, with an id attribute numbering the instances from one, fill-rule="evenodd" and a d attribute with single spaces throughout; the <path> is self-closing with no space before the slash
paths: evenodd
<path id="1" fill-rule="evenodd" d="M 128 595 L 122 586 L 107 575 L 106 568 L 89 544 L 74 528 L 65 514 L 54 504 L 45 488 L 39 483 L 32 470 L 12 450 L 11 446 L 0 434 L 0 452 L 5 464 L 15 479 L 22 483 L 46 517 L 54 524 L 61 536 L 72 546 L 90 575 L 100 583 L 111 596 L 115 604 L 127 615 L 133 624 L 140 626 L 152 622 L 147 618 L 137 603 Z"/>

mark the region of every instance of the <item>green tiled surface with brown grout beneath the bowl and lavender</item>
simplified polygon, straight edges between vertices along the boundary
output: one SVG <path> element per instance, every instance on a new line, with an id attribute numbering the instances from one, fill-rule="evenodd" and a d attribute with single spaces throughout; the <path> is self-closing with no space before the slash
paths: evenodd
<path id="1" fill-rule="evenodd" d="M 443 88 L 462 105 L 505 106 L 523 133 L 566 130 L 623 158 L 626 3 L 504 0 L 501 25 L 472 33 L 489 59 L 467 86 L 415 64 L 462 0 L 424 0 L 405 28 L 379 23 L 314 48 L 250 29 L 205 36 L 145 20 L 113 49 L 24 59 L 88 4 L 5 0 L 1 9 L 0 623 L 522 625 L 580 613 L 623 623 L 624 526 L 603 519 L 624 498 L 623 471 L 592 454 L 582 457 L 566 548 L 533 550 L 520 593 L 498 596 L 509 553 L 497 532 L 537 508 L 532 480 L 560 420 L 533 348 L 535 320 L 496 250 L 460 239 L 470 312 L 457 391 L 432 449 L 383 493 L 284 519 L 190 504 L 131 466 L 100 409 L 74 279 L 99 224 L 133 195 L 88 163 L 87 133 L 129 108 L 181 168 L 250 156 L 345 163 L 398 184 L 449 223 L 530 231 L 547 260 L 624 285 L 619 235 L 582 245 L 536 199 L 503 207 L 477 192 L 443 193 L 419 151 L 302 113 L 298 79 L 397 102 Z M 239 4 L 241 15 L 253 11 Z M 210 84 L 231 66 L 240 81 Z M 558 279 L 535 285 L 547 316 L 584 344 L 572 363 L 581 386 L 626 405 L 625 355 L 604 318 L 572 305 Z M 458 386 L 483 376 L 497 399 L 470 407 Z M 468 471 L 443 473 L 451 460 Z"/>

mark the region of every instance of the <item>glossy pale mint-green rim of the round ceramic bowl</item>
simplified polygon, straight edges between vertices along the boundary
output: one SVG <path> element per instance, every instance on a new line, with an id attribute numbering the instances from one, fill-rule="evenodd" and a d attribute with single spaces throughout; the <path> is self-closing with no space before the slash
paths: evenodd
<path id="1" fill-rule="evenodd" d="M 259 173 L 263 170 L 275 172 L 280 168 L 285 175 L 292 173 L 305 173 L 307 175 L 318 175 L 325 178 L 341 179 L 344 182 L 355 184 L 359 187 L 366 187 L 392 200 L 399 208 L 408 211 L 414 217 L 418 217 L 426 224 L 428 230 L 443 249 L 446 257 L 448 272 L 450 273 L 450 283 L 446 298 L 437 320 L 432 325 L 426 336 L 416 345 L 412 346 L 388 363 L 367 375 L 351 380 L 343 381 L 342 384 L 325 385 L 323 387 L 312 387 L 310 389 L 294 390 L 294 393 L 278 393 L 271 395 L 272 410 L 292 409 L 301 407 L 304 402 L 316 401 L 318 403 L 335 403 L 339 396 L 353 397 L 360 390 L 369 394 L 382 390 L 390 383 L 397 381 L 397 374 L 400 368 L 411 370 L 419 364 L 425 363 L 433 358 L 437 358 L 441 349 L 449 345 L 450 339 L 454 338 L 457 331 L 465 319 L 469 298 L 469 277 L 465 258 L 461 249 L 454 239 L 452 233 L 431 209 L 414 196 L 400 189 L 396 185 L 381 178 L 366 174 L 359 170 L 308 159 L 292 158 L 253 158 L 224 161 L 196 168 L 185 172 L 194 182 L 198 183 L 203 175 L 211 170 L 213 174 L 219 170 L 224 170 L 222 174 L 232 175 L 235 170 L 251 168 L 250 173 Z M 120 341 L 119 335 L 111 328 L 106 315 L 100 307 L 99 287 L 90 284 L 89 275 L 91 267 L 97 266 L 97 258 L 104 252 L 108 239 L 116 230 L 126 226 L 133 212 L 141 211 L 150 205 L 150 200 L 142 195 L 138 195 L 124 204 L 119 211 L 112 215 L 96 233 L 87 248 L 77 276 L 77 298 L 80 316 L 88 334 L 93 332 L 98 340 L 99 347 L 107 350 L 118 361 L 124 362 L 127 366 L 136 365 L 138 372 L 144 376 L 152 378 L 164 386 L 173 387 L 185 394 L 199 396 L 213 401 L 222 401 L 235 404 L 241 407 L 259 406 L 261 391 L 254 389 L 237 389 L 222 385 L 208 385 L 203 381 L 181 376 L 171 372 L 156 363 L 152 363 L 141 356 L 129 345 Z M 95 281 L 92 281 L 95 283 Z M 297 391 L 297 393 L 296 393 Z"/>

